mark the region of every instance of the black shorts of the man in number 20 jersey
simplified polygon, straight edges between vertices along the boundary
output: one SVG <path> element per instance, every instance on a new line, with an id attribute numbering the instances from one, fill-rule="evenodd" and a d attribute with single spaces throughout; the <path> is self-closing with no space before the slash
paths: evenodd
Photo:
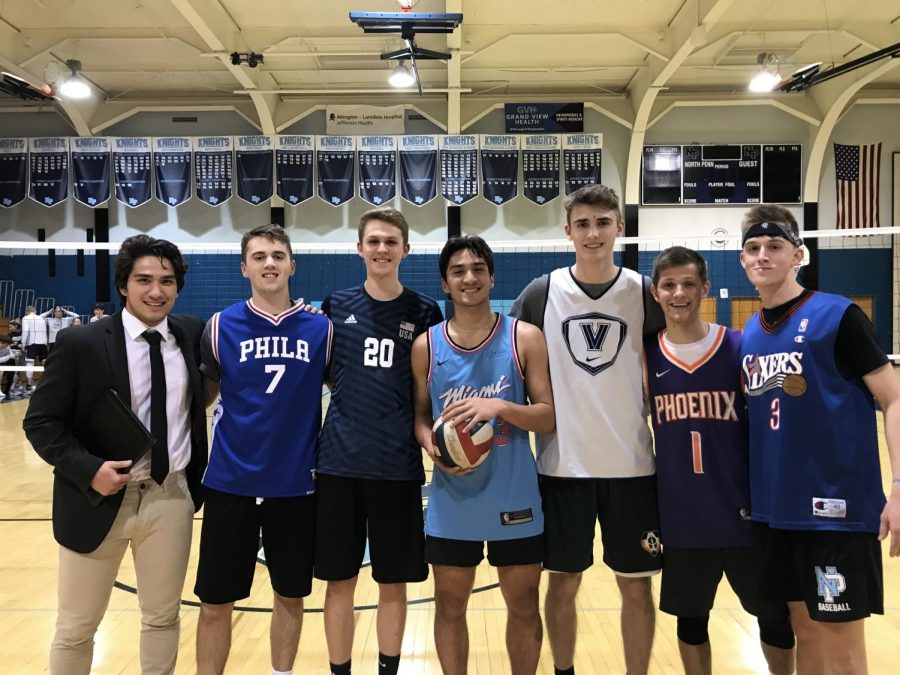
<path id="1" fill-rule="evenodd" d="M 424 581 L 425 530 L 418 481 L 316 476 L 316 565 L 323 581 L 359 574 L 368 538 L 372 578 Z"/>

